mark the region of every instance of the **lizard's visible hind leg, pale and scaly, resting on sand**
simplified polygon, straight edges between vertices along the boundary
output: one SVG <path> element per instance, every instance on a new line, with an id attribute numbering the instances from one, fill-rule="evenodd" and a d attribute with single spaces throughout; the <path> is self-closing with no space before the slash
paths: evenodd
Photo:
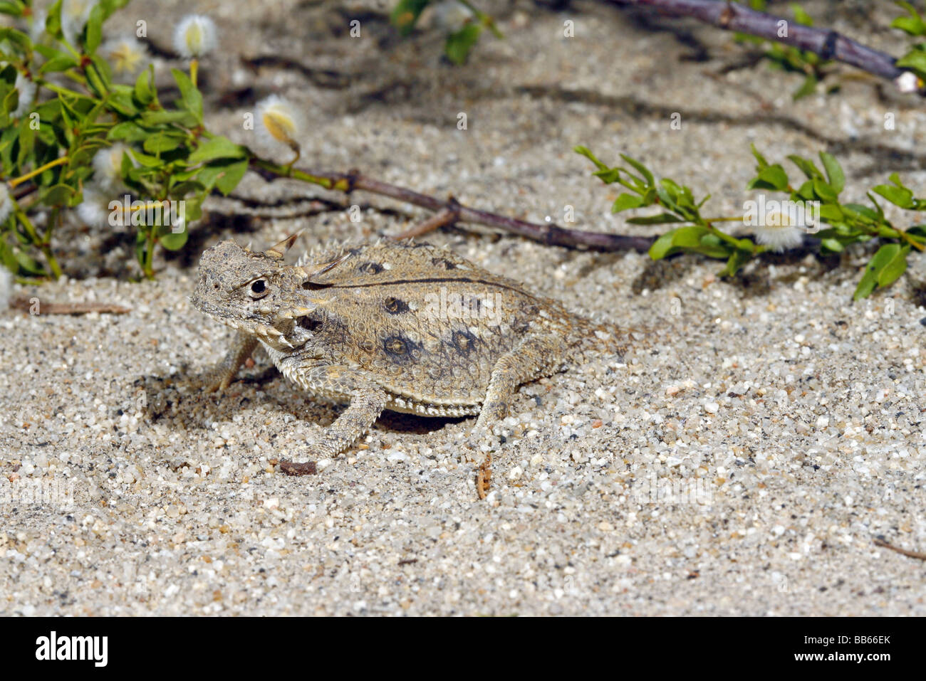
<path id="1" fill-rule="evenodd" d="M 485 391 L 474 431 L 489 428 L 505 418 L 518 387 L 555 374 L 566 359 L 566 346 L 553 335 L 529 336 L 499 357 Z"/>

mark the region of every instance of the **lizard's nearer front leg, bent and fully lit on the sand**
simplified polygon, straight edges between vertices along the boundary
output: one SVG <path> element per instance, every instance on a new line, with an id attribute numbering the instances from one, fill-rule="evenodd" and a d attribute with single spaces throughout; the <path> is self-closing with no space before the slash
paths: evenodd
<path id="1" fill-rule="evenodd" d="M 284 372 L 289 375 L 290 372 Z M 313 455 L 332 457 L 344 452 L 367 432 L 388 402 L 386 391 L 362 371 L 339 365 L 314 365 L 292 372 L 296 383 L 321 394 L 348 396 L 350 402 L 320 440 L 310 443 Z"/>

